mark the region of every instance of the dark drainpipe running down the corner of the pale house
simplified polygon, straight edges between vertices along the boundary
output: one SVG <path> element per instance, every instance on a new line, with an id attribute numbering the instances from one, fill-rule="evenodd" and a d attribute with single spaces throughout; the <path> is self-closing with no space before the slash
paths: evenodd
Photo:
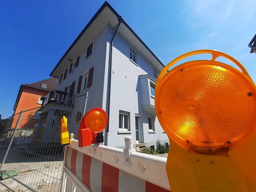
<path id="1" fill-rule="evenodd" d="M 108 64 L 108 75 L 109 75 L 109 80 L 108 80 L 108 124 L 107 124 L 107 130 L 106 130 L 106 139 L 105 139 L 105 145 L 108 146 L 108 134 L 109 134 L 109 118 L 110 118 L 110 92 L 111 92 L 111 77 L 112 77 L 112 47 L 113 47 L 113 40 L 114 37 L 116 36 L 116 32 L 120 26 L 120 24 L 123 22 L 123 17 L 119 16 L 118 17 L 118 24 L 113 28 L 114 32 L 112 33 L 112 39 L 111 39 L 111 43 L 110 43 L 110 50 L 109 50 L 109 54 L 110 54 L 110 58 L 109 58 L 109 64 Z"/>

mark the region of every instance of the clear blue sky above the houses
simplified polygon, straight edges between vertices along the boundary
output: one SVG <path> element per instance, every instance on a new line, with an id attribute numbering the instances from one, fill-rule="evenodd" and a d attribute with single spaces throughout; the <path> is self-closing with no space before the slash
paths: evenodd
<path id="1" fill-rule="evenodd" d="M 256 81 L 253 0 L 109 0 L 110 5 L 164 63 L 197 49 L 240 61 Z M 49 74 L 103 0 L 0 1 L 0 113 L 13 114 L 20 84 Z M 199 58 L 199 57 L 195 57 Z M 204 57 L 202 57 L 204 58 Z"/>

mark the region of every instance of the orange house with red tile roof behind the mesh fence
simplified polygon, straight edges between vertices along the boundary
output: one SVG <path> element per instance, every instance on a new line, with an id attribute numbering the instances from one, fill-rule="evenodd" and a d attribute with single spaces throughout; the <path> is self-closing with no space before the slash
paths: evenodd
<path id="1" fill-rule="evenodd" d="M 34 82 L 31 84 L 22 84 L 14 104 L 14 120 L 12 123 L 12 128 L 15 127 L 18 120 L 18 115 L 21 110 L 28 110 L 36 107 L 42 106 L 41 97 L 46 96 L 52 90 L 56 90 L 58 79 L 57 78 L 48 78 L 42 81 Z M 24 124 L 28 121 L 34 114 L 23 113 L 22 121 L 18 124 L 18 128 L 22 128 Z M 33 128 L 33 127 L 31 127 Z"/>

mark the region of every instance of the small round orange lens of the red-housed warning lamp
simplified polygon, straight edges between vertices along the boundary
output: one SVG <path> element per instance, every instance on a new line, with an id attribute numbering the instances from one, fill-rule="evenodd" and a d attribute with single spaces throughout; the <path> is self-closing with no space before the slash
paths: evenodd
<path id="1" fill-rule="evenodd" d="M 93 132 L 102 131 L 108 122 L 107 114 L 102 108 L 93 108 L 85 117 L 85 125 Z"/>

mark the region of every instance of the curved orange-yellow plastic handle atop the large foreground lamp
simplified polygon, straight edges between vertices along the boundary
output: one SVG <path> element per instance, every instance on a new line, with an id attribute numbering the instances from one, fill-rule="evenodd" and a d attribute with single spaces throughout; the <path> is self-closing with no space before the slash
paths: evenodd
<path id="1" fill-rule="evenodd" d="M 224 58 L 227 58 L 228 60 L 232 61 L 234 64 L 236 64 L 241 70 L 242 72 L 250 79 L 252 80 L 252 78 L 250 77 L 250 75 L 248 74 L 248 72 L 246 71 L 246 69 L 244 68 L 244 66 L 238 61 L 236 60 L 235 58 L 233 58 L 232 56 L 226 54 L 226 53 L 223 53 L 223 52 L 220 52 L 220 51 L 216 51 L 216 50 L 210 50 L 210 49 L 202 49 L 202 50 L 195 50 L 195 51 L 191 51 L 191 52 L 188 52 L 188 53 L 185 53 L 181 56 L 178 56 L 177 58 L 175 58 L 174 60 L 172 60 L 170 63 L 168 63 L 164 69 L 160 72 L 159 76 L 158 76 L 158 83 L 162 80 L 163 76 L 166 74 L 166 72 L 168 71 L 168 69 L 170 67 L 172 67 L 174 64 L 176 64 L 177 62 L 179 62 L 180 60 L 184 59 L 184 58 L 187 58 L 187 57 L 190 57 L 190 56 L 193 56 L 193 55 L 198 55 L 198 54 L 212 54 L 212 61 L 215 61 L 216 58 L 218 57 L 224 57 Z M 252 80 L 253 82 L 253 80 Z M 156 84 L 156 87 L 157 87 L 157 84 Z"/>

